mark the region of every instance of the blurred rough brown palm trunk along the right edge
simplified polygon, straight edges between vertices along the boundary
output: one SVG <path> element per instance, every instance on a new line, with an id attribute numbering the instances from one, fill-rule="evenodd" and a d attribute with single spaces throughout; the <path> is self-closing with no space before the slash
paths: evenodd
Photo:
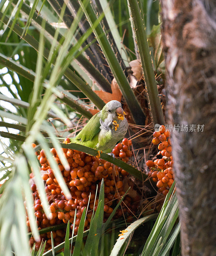
<path id="1" fill-rule="evenodd" d="M 183 256 L 216 255 L 215 1 L 162 0 L 167 116 Z M 188 125 L 188 132 L 181 125 Z M 204 131 L 189 131 L 189 125 Z"/>

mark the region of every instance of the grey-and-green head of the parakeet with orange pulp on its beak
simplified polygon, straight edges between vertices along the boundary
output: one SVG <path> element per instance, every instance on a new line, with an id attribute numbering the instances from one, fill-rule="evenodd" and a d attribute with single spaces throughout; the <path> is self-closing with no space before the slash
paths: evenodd
<path id="1" fill-rule="evenodd" d="M 121 103 L 117 100 L 109 101 L 102 109 L 102 116 L 104 119 L 108 118 L 117 121 L 124 119 L 124 111 Z M 120 119 L 119 116 L 123 118 Z"/>

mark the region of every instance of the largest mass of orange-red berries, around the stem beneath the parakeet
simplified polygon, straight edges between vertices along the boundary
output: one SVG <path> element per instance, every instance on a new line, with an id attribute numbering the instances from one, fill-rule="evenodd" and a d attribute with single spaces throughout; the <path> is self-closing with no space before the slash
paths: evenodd
<path id="1" fill-rule="evenodd" d="M 65 143 L 68 143 L 68 139 L 65 140 Z M 125 162 L 128 161 L 129 156 L 132 155 L 132 152 L 129 149 L 129 146 L 132 144 L 131 140 L 124 139 L 122 144 L 117 144 L 113 149 L 115 156 L 121 157 Z M 33 144 L 33 147 L 36 145 Z M 79 223 L 81 220 L 82 213 L 84 208 L 89 202 L 89 208 L 87 212 L 87 217 L 84 224 L 84 230 L 89 229 L 90 221 L 92 217 L 93 208 L 94 211 L 97 209 L 98 205 L 98 196 L 96 196 L 95 207 L 95 193 L 96 186 L 98 184 L 100 188 L 101 180 L 104 179 L 104 221 L 106 221 L 109 215 L 113 211 L 113 207 L 118 203 L 121 196 L 125 194 L 124 191 L 124 176 L 127 176 L 129 173 L 123 170 L 120 167 L 117 167 L 110 162 L 107 162 L 101 158 L 95 156 L 87 155 L 84 152 L 78 150 L 62 148 L 65 157 L 70 165 L 70 170 L 67 171 L 64 169 L 59 156 L 55 150 L 52 148 L 50 152 L 53 154 L 53 158 L 56 163 L 59 165 L 59 168 L 62 172 L 63 178 L 71 192 L 72 199 L 68 199 L 64 196 L 59 184 L 54 176 L 53 170 L 49 166 L 49 162 L 46 158 L 45 152 L 42 149 L 38 153 L 38 160 L 40 162 L 42 169 L 42 179 L 45 182 L 45 192 L 47 195 L 48 202 L 50 204 L 50 215 L 47 219 L 41 201 L 37 192 L 35 184 L 31 185 L 31 189 L 34 196 L 34 208 L 35 215 L 37 218 L 37 225 L 39 228 L 45 228 L 53 225 L 64 223 L 71 223 L 70 229 L 72 232 L 73 222 L 76 212 L 76 222 L 74 234 L 77 234 Z M 30 178 L 33 178 L 33 173 L 30 174 Z M 91 193 L 91 196 L 90 196 Z M 90 201 L 89 201 L 90 197 Z M 125 218 L 129 220 L 132 218 L 131 213 L 135 213 L 138 207 L 138 202 L 135 203 L 134 198 L 131 198 L 129 195 L 125 196 L 124 203 L 122 203 L 121 209 L 116 211 L 114 218 L 119 218 L 124 215 Z M 127 207 L 126 207 L 127 206 Z M 132 211 L 130 211 L 130 210 Z M 29 227 L 29 221 L 27 217 L 27 226 Z M 30 231 L 30 228 L 29 228 Z M 53 231 L 54 244 L 57 245 L 63 242 L 65 237 L 65 230 L 60 229 Z M 41 235 L 41 241 L 47 240 L 46 250 L 51 249 L 51 233 L 45 233 Z M 40 242 L 36 243 L 36 249 L 40 247 Z M 34 244 L 33 237 L 30 238 L 30 245 Z"/>

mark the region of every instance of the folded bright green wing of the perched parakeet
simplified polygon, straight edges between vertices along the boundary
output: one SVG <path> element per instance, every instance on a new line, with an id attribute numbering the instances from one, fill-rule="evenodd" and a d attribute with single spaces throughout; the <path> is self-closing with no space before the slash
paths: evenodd
<path id="1" fill-rule="evenodd" d="M 84 128 L 76 135 L 76 140 L 92 140 L 92 138 L 100 132 L 100 116 L 101 111 L 92 116 Z"/>

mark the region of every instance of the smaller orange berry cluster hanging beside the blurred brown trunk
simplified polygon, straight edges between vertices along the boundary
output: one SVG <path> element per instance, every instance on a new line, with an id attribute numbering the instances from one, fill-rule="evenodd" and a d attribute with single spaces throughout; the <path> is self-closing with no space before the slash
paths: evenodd
<path id="1" fill-rule="evenodd" d="M 153 136 L 152 144 L 159 144 L 158 149 L 160 151 L 158 155 L 161 155 L 162 158 L 156 159 L 154 162 L 151 160 L 146 161 L 146 165 L 150 169 L 148 176 L 152 177 L 152 180 L 157 182 L 156 186 L 158 187 L 158 192 L 162 192 L 162 194 L 166 196 L 174 181 L 170 132 L 165 130 L 164 125 L 161 125 L 159 131 L 154 132 Z"/>

